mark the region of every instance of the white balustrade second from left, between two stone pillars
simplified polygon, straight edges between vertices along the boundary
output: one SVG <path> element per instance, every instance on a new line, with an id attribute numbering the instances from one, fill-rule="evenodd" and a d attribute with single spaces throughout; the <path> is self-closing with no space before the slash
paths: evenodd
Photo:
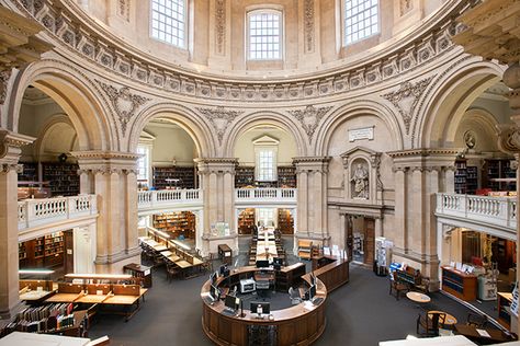
<path id="1" fill-rule="evenodd" d="M 158 189 L 139 191 L 137 193 L 137 208 L 163 207 L 171 204 L 202 203 L 200 189 Z"/>

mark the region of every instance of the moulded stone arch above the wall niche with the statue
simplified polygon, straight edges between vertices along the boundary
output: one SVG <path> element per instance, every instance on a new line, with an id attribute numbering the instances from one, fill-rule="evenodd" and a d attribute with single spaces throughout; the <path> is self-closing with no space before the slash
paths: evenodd
<path id="1" fill-rule="evenodd" d="M 397 145 L 395 150 L 404 148 L 402 127 L 394 113 L 387 106 L 373 100 L 362 100 L 348 103 L 326 117 L 316 132 L 316 155 L 327 155 L 330 138 L 339 124 L 361 115 L 373 115 L 381 118 L 391 132 L 392 141 Z"/>

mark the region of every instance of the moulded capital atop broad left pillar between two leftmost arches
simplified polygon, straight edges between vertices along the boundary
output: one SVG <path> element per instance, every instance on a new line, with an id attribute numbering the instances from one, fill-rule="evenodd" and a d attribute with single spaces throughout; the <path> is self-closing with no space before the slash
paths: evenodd
<path id="1" fill-rule="evenodd" d="M 84 150 L 72 151 L 71 154 L 78 159 L 78 174 L 102 173 L 102 174 L 137 174 L 137 159 L 142 155 L 132 152 Z"/>

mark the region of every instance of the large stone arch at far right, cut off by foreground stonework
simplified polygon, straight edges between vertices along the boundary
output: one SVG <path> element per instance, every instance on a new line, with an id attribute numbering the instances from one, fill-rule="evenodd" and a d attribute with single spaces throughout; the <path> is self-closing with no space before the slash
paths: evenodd
<path id="1" fill-rule="evenodd" d="M 475 99 L 497 82 L 504 68 L 479 57 L 463 58 L 445 70 L 425 92 L 414 124 L 417 148 L 452 147 L 456 128 Z"/>

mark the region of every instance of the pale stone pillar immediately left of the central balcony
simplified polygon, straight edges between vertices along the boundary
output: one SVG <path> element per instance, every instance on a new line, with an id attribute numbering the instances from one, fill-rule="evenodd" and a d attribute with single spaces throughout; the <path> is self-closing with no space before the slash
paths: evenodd
<path id="1" fill-rule="evenodd" d="M 211 158 L 195 160 L 201 175 L 203 193 L 202 247 L 204 255 L 216 253 L 218 244 L 227 244 L 238 254 L 238 230 L 235 218 L 235 158 Z M 230 234 L 212 234 L 212 224 L 225 222 L 229 224 Z"/>

